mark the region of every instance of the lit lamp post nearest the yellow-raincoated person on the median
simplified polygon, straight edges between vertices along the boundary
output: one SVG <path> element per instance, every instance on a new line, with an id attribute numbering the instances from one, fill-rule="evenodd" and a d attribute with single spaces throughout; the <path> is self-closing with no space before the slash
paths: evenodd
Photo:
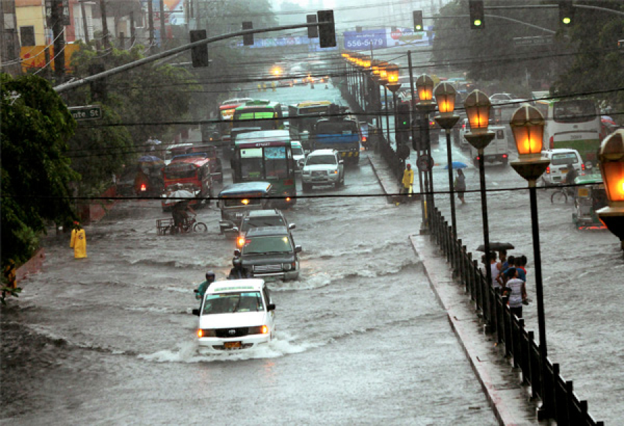
<path id="1" fill-rule="evenodd" d="M 435 111 L 435 103 L 433 103 L 433 78 L 422 74 L 416 78 L 414 83 L 416 91 L 418 92 L 418 103 L 416 108 L 420 112 L 420 143 L 424 150 L 422 155 L 423 163 L 432 163 L 431 161 L 431 141 L 429 139 L 429 114 Z M 419 159 L 420 160 L 420 159 Z M 428 169 L 424 173 L 424 187 L 426 190 L 426 200 L 424 201 L 424 215 L 422 224 L 422 233 L 428 231 L 428 218 L 433 213 L 433 207 L 435 206 L 435 198 L 433 197 L 433 170 Z M 422 195 L 421 195 L 422 196 Z M 426 216 L 426 218 L 425 218 Z M 426 220 L 425 220 L 426 219 Z"/>

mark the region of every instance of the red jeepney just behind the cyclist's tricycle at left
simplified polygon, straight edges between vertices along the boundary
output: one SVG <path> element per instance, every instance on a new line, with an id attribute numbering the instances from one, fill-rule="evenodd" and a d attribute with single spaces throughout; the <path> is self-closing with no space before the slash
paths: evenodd
<path id="1" fill-rule="evenodd" d="M 168 196 L 175 190 L 188 190 L 197 199 L 191 201 L 191 205 L 199 206 L 210 204 L 212 197 L 212 176 L 211 159 L 207 158 L 205 152 L 191 152 L 173 157 L 163 169 L 164 193 L 162 194 L 162 210 L 168 211 L 173 204 L 180 201 L 170 200 Z"/>

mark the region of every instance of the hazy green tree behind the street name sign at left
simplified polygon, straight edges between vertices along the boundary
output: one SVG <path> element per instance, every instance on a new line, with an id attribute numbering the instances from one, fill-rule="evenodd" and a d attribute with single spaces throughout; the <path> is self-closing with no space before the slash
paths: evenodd
<path id="1" fill-rule="evenodd" d="M 105 56 L 106 69 L 139 60 L 143 46 L 130 51 L 112 49 Z M 77 76 L 88 76 L 89 66 L 102 63 L 101 53 L 82 46 L 72 57 Z M 103 100 L 94 100 L 89 86 L 67 94 L 68 105 L 99 103 L 103 118 L 78 125 L 69 141 L 74 170 L 80 172 L 80 193 L 92 193 L 124 164 L 132 164 L 148 148 L 150 136 L 164 139 L 170 123 L 185 118 L 193 108 L 189 91 L 197 89 L 191 73 L 168 64 L 147 64 L 107 78 Z M 97 99 L 97 98 L 96 98 Z"/>

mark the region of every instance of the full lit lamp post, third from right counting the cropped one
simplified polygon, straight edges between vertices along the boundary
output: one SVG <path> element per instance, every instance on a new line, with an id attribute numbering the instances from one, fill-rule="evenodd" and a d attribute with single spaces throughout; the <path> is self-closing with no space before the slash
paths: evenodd
<path id="1" fill-rule="evenodd" d="M 494 139 L 494 133 L 487 131 L 487 124 L 489 123 L 489 109 L 492 107 L 492 103 L 489 102 L 489 98 L 482 91 L 472 91 L 464 101 L 464 107 L 466 109 L 466 115 L 470 123 L 470 132 L 465 134 L 464 137 L 474 146 L 478 152 L 479 158 L 479 183 L 481 194 L 481 215 L 483 218 L 483 246 L 485 247 L 485 276 L 487 276 L 487 285 L 492 285 L 492 270 L 489 267 L 489 229 L 487 222 L 487 197 L 485 194 L 485 166 L 483 164 L 483 150 Z M 488 306 L 492 306 L 492 300 L 488 295 Z M 485 297 L 482 294 L 481 306 L 485 309 Z"/>

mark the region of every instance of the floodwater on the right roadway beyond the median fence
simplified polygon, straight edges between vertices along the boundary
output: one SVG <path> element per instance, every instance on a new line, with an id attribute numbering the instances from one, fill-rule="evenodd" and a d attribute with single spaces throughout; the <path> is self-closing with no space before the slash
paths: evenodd
<path id="1" fill-rule="evenodd" d="M 511 138 L 512 139 L 512 138 Z M 517 159 L 513 140 L 510 160 Z M 464 170 L 466 204 L 456 199 L 457 234 L 473 258 L 483 244 L 483 220 L 479 195 L 479 173 L 467 150 L 451 146 L 453 161 L 468 165 Z M 413 155 L 412 157 L 415 157 Z M 435 191 L 449 190 L 447 144 L 444 136 L 433 147 Z M 410 159 L 415 163 L 415 159 Z M 510 166 L 485 165 L 489 240 L 510 242 L 510 255 L 528 258 L 527 290 L 532 303 L 523 308 L 528 330 L 537 327 L 535 263 L 533 261 L 530 200 L 527 182 Z M 548 357 L 559 363 L 565 380 L 573 380 L 580 400 L 587 400 L 589 412 L 606 424 L 624 420 L 624 261 L 618 239 L 606 229 L 578 230 L 572 213 L 574 203 L 551 203 L 553 189 L 537 189 L 537 218 Z M 451 223 L 448 194 L 435 197 L 436 206 Z M 477 257 L 478 256 L 478 257 Z"/>

